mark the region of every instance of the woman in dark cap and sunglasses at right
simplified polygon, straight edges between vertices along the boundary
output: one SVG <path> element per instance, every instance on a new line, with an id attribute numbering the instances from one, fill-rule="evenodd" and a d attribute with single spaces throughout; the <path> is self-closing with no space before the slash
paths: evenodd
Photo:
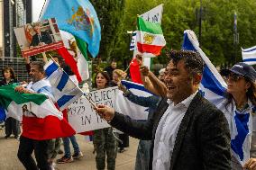
<path id="1" fill-rule="evenodd" d="M 245 160 L 249 159 L 242 153 L 242 148 L 250 148 L 251 145 L 252 108 L 256 105 L 256 71 L 253 67 L 240 62 L 231 69 L 224 70 L 223 75 L 227 83 L 226 98 L 217 105 L 217 108 L 224 112 L 229 122 L 231 148 L 235 153 L 232 154 L 232 169 L 242 170 L 238 160 L 242 160 L 243 157 L 246 158 Z M 243 134 L 243 139 L 238 139 L 237 133 Z M 242 142 L 244 140 L 250 142 Z M 254 169 L 247 166 L 245 162 L 242 163 L 244 168 Z"/>

